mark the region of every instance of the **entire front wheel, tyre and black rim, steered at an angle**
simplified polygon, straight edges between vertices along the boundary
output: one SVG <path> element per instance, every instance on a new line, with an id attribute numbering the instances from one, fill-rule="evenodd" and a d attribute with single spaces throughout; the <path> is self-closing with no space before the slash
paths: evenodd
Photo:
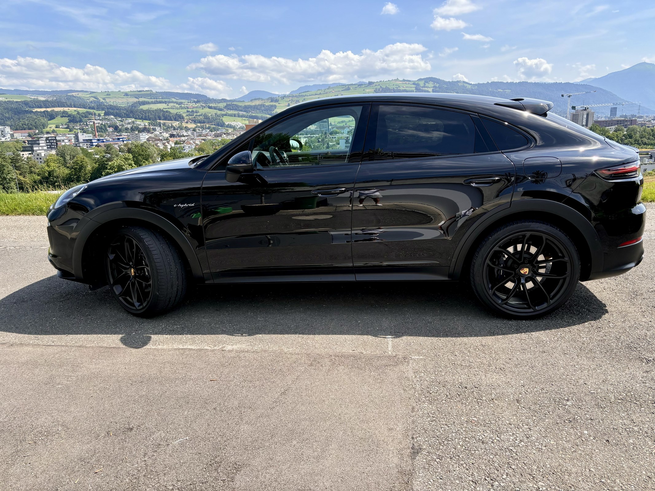
<path id="1" fill-rule="evenodd" d="M 187 272 L 178 249 L 160 232 L 122 227 L 111 234 L 105 272 L 119 304 L 139 317 L 171 310 L 187 290 Z"/>

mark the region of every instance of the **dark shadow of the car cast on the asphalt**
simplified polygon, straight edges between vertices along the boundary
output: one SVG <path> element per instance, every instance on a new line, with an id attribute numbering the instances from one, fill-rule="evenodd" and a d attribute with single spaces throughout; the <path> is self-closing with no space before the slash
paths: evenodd
<path id="1" fill-rule="evenodd" d="M 50 276 L 0 299 L 0 331 L 121 335 L 125 346 L 141 348 L 152 335 L 508 335 L 571 327 L 605 313 L 583 283 L 560 310 L 531 321 L 491 314 L 457 283 L 269 283 L 194 287 L 178 309 L 140 319 L 106 287 L 89 291 Z"/>

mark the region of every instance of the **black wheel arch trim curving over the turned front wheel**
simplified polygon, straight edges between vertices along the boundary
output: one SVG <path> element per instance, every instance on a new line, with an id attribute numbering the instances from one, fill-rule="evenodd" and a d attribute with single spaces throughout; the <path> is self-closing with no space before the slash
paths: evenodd
<path id="1" fill-rule="evenodd" d="M 174 223 L 161 215 L 142 208 L 111 208 L 94 213 L 90 222 L 80 231 L 73 248 L 73 272 L 77 278 L 85 283 L 98 284 L 104 282 L 104 275 L 97 276 L 98 245 L 105 238 L 106 233 L 115 227 L 126 225 L 139 225 L 146 228 L 155 228 L 178 247 L 181 257 L 185 260 L 193 278 L 204 280 L 202 268 L 196 252 L 189 239 Z"/>

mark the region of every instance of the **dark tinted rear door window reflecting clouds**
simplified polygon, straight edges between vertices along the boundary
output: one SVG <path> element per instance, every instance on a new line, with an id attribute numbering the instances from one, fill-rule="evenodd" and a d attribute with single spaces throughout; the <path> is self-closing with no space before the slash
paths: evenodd
<path id="1" fill-rule="evenodd" d="M 476 127 L 471 117 L 464 113 L 430 107 L 383 105 L 375 119 L 375 141 L 367 139 L 372 160 L 475 151 Z M 487 151 L 486 147 L 483 151 Z"/>

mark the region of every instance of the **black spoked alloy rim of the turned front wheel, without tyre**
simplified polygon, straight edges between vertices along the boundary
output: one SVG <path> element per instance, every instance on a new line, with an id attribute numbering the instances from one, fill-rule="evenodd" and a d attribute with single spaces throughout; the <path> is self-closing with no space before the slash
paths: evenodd
<path id="1" fill-rule="evenodd" d="M 134 238 L 119 234 L 107 249 L 109 286 L 128 311 L 147 307 L 153 291 L 153 277 L 143 249 Z"/>

